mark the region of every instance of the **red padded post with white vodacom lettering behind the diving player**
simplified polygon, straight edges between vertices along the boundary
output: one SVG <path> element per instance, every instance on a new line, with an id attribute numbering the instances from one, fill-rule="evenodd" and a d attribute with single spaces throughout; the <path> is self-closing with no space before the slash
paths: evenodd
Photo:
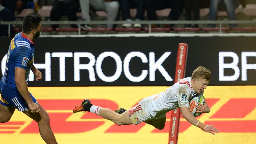
<path id="1" fill-rule="evenodd" d="M 181 80 L 185 77 L 188 48 L 189 48 L 188 44 L 179 43 L 174 83 L 178 82 L 179 80 Z M 171 121 L 170 121 L 168 144 L 177 144 L 180 116 L 181 116 L 181 112 L 180 112 L 179 108 L 171 111 Z"/>

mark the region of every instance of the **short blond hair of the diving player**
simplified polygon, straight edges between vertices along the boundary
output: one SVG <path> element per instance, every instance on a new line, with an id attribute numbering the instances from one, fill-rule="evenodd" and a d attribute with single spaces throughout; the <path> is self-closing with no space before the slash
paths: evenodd
<path id="1" fill-rule="evenodd" d="M 198 66 L 192 73 L 191 79 L 211 79 L 211 72 L 203 66 Z"/>

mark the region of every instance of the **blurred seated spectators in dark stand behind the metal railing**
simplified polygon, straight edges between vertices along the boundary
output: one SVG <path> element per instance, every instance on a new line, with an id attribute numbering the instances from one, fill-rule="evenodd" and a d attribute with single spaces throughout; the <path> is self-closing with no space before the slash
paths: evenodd
<path id="1" fill-rule="evenodd" d="M 140 21 L 200 21 L 256 19 L 255 0 L 0 0 L 0 22 L 22 21 L 29 13 L 38 13 L 42 21 L 126 21 L 123 24 L 83 24 L 83 29 L 149 27 Z M 243 9 L 255 8 L 255 14 Z M 222 12 L 219 13 L 219 12 Z M 224 12 L 224 13 L 223 13 Z M 226 13 L 225 13 L 226 12 Z M 138 23 L 129 23 L 131 21 Z M 215 24 L 151 24 L 151 28 L 217 27 Z M 255 26 L 255 24 L 226 24 L 226 27 Z M 78 28 L 72 25 L 43 25 L 58 28 Z M 8 25 L 0 24 L 0 36 L 8 36 Z M 15 31 L 16 30 L 16 31 Z M 11 35 L 21 25 L 11 25 Z"/>

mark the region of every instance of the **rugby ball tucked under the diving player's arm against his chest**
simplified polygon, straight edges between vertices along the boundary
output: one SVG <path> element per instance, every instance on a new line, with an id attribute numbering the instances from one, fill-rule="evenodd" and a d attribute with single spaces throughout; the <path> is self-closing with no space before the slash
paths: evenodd
<path id="1" fill-rule="evenodd" d="M 189 102 L 189 111 L 191 112 L 192 115 L 194 115 L 194 117 L 198 117 L 199 115 L 201 115 L 202 113 L 197 113 L 195 112 L 197 109 L 195 108 L 195 105 L 198 105 L 197 103 L 201 103 L 203 105 L 205 105 L 205 97 L 203 97 L 203 95 L 195 95 Z"/>

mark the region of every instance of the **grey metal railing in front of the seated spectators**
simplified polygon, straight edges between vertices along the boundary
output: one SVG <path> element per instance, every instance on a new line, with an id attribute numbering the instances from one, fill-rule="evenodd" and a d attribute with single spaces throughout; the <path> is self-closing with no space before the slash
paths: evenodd
<path id="1" fill-rule="evenodd" d="M 252 21 L 42 21 L 42 25 L 51 25 L 51 24 L 59 24 L 59 25 L 70 25 L 76 24 L 78 25 L 78 35 L 81 35 L 81 25 L 102 25 L 102 24 L 145 24 L 149 26 L 149 33 L 151 33 L 151 24 L 218 24 L 219 33 L 222 33 L 223 24 L 256 24 L 256 20 Z M 2 21 L 0 22 L 2 25 L 8 25 L 8 36 L 10 37 L 10 26 L 11 25 L 22 25 L 22 21 Z M 256 27 L 256 26 L 255 26 Z"/>

